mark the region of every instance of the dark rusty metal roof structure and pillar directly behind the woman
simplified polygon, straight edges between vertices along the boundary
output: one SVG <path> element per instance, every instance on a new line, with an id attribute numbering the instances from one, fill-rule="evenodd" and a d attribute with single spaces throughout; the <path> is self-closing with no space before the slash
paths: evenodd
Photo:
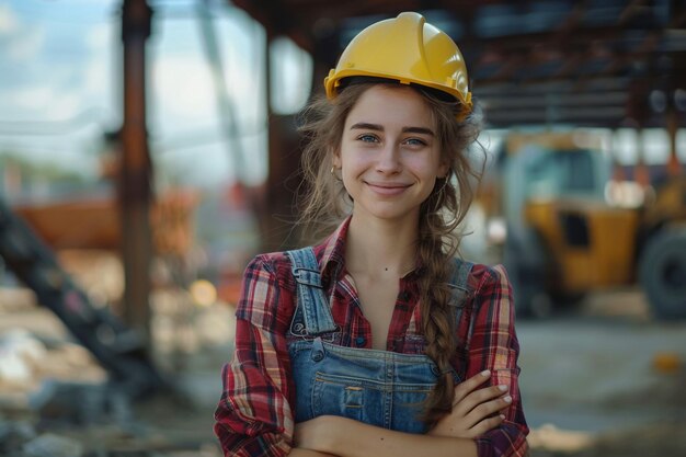
<path id="1" fill-rule="evenodd" d="M 288 36 L 310 53 L 312 92 L 322 90 L 324 76 L 357 32 L 401 11 L 419 11 L 460 46 L 488 127 L 665 128 L 670 173 L 682 173 L 676 135 L 686 126 L 686 5 L 681 0 L 229 3 L 264 26 L 267 46 Z M 297 173 L 294 124 L 270 116 L 267 215 L 295 216 L 293 190 L 285 184 Z M 647 174 L 642 160 L 639 175 Z M 265 249 L 283 247 L 288 233 L 283 224 L 263 226 Z"/>

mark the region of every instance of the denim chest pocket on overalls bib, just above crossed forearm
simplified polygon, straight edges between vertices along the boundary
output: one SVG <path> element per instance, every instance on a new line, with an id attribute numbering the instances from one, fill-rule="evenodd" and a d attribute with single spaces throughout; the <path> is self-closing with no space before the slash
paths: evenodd
<path id="1" fill-rule="evenodd" d="M 379 382 L 317 372 L 313 416 L 333 414 L 408 433 L 423 433 L 424 400 L 433 384 Z"/>

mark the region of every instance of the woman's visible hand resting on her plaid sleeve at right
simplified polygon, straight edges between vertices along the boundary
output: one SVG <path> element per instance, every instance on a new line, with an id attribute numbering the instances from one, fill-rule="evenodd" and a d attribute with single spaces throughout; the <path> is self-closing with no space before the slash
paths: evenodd
<path id="1" fill-rule="evenodd" d="M 482 372 L 455 386 L 453 411 L 442 418 L 427 435 L 473 439 L 500 425 L 505 416 L 495 413 L 507 408 L 512 397 L 506 395 L 507 386 L 478 389 L 490 376 L 490 372 Z"/>

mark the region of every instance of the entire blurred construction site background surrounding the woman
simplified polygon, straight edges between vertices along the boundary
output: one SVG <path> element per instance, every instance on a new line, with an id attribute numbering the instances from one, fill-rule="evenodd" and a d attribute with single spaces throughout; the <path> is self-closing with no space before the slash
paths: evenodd
<path id="1" fill-rule="evenodd" d="M 243 269 L 300 236 L 298 113 L 402 11 L 483 111 L 460 252 L 512 281 L 530 455 L 686 455 L 684 2 L 85 3 L 0 5 L 0 456 L 222 455 Z"/>

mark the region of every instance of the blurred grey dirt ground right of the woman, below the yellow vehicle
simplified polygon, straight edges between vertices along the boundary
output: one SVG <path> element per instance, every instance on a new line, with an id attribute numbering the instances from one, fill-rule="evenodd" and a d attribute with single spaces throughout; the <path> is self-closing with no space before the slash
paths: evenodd
<path id="1" fill-rule="evenodd" d="M 686 456 L 686 322 L 624 289 L 517 329 L 533 456 Z"/>

